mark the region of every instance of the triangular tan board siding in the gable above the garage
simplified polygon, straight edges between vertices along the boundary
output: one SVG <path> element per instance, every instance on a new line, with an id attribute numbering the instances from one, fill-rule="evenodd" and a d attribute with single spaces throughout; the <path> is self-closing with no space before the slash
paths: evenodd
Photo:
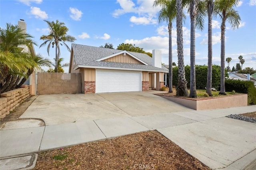
<path id="1" fill-rule="evenodd" d="M 114 57 L 110 57 L 108 59 L 104 59 L 103 61 L 108 61 L 108 62 L 117 62 L 117 63 L 131 63 L 131 64 L 143 64 L 140 61 L 136 60 L 132 56 L 124 55 L 124 53 L 116 55 Z"/>

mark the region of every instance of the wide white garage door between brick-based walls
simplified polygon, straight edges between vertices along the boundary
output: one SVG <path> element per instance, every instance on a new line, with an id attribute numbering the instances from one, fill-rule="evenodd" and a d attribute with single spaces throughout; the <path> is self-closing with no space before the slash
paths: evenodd
<path id="1" fill-rule="evenodd" d="M 96 70 L 96 93 L 141 91 L 140 71 Z"/>

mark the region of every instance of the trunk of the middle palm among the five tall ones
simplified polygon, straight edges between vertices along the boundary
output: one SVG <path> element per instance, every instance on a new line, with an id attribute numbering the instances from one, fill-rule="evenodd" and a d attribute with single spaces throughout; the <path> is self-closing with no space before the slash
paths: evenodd
<path id="1" fill-rule="evenodd" d="M 189 97 L 196 98 L 196 9 L 197 2 L 190 2 L 190 94 Z"/>

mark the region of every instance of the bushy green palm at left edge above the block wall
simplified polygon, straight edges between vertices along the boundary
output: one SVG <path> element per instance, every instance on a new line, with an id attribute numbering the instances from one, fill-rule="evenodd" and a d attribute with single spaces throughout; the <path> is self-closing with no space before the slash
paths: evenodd
<path id="1" fill-rule="evenodd" d="M 6 24 L 5 29 L 0 28 L 0 93 L 15 89 L 20 77 L 36 67 L 32 55 L 24 50 L 36 45 L 32 38 L 17 25 Z"/>

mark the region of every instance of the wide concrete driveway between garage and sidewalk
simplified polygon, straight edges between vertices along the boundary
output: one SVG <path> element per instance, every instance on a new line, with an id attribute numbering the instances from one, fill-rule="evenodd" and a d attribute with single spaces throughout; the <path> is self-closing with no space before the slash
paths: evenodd
<path id="1" fill-rule="evenodd" d="M 46 125 L 135 117 L 181 111 L 187 107 L 147 92 L 40 95 L 20 118 L 42 119 Z"/>

